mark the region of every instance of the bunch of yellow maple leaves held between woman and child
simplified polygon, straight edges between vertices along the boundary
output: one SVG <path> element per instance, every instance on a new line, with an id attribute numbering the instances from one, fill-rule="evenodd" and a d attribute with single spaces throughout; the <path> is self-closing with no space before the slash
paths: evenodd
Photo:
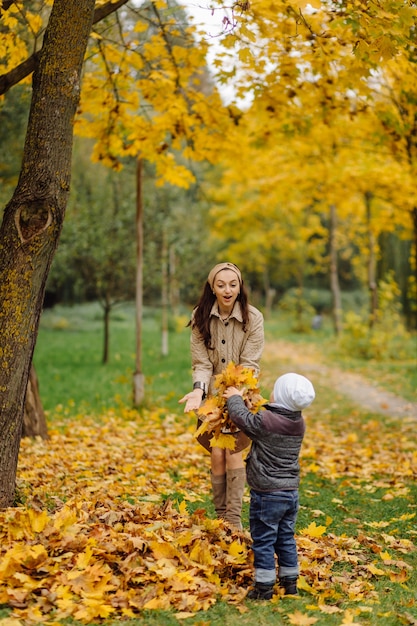
<path id="1" fill-rule="evenodd" d="M 238 433 L 239 429 L 229 418 L 227 400 L 223 398 L 223 392 L 227 387 L 236 387 L 243 391 L 243 400 L 251 413 L 256 413 L 266 400 L 259 392 L 258 380 L 253 371 L 249 367 L 235 365 L 233 361 L 216 376 L 214 386 L 216 394 L 209 396 L 198 409 L 197 415 L 201 424 L 195 436 L 198 438 L 205 432 L 212 433 L 211 447 L 234 450 L 236 439 L 230 435 Z"/>

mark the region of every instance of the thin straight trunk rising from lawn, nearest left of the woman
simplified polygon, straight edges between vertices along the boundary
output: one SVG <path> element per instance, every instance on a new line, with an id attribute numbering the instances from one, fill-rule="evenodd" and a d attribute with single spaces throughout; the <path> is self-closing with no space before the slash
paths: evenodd
<path id="1" fill-rule="evenodd" d="M 140 406 L 145 397 L 145 377 L 142 373 L 142 311 L 143 311 L 143 200 L 142 160 L 136 169 L 136 371 L 133 374 L 133 404 Z"/>

